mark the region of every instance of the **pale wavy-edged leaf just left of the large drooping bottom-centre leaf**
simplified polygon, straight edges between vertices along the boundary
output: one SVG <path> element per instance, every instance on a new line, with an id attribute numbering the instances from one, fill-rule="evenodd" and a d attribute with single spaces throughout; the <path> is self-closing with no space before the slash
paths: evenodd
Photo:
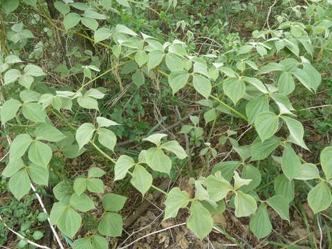
<path id="1" fill-rule="evenodd" d="M 190 196 L 184 190 L 180 190 L 178 187 L 173 187 L 171 191 L 167 194 L 167 199 L 165 200 L 165 219 L 176 217 L 178 210 L 180 208 L 187 207 L 190 201 Z"/>

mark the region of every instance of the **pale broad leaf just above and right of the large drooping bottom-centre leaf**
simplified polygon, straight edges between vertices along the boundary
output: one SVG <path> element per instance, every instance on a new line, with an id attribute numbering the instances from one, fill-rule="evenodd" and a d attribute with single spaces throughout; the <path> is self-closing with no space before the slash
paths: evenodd
<path id="1" fill-rule="evenodd" d="M 206 187 L 211 200 L 215 202 L 223 200 L 228 192 L 233 190 L 232 185 L 230 185 L 228 181 L 222 178 L 216 178 L 215 176 L 208 176 L 206 179 Z"/>

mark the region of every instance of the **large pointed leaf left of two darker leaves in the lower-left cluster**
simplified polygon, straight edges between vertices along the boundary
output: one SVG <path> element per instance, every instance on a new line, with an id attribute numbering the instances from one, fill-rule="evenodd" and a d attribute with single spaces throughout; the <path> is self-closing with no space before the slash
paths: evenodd
<path id="1" fill-rule="evenodd" d="M 52 215 L 52 210 L 50 215 Z M 77 231 L 80 229 L 81 223 L 82 217 L 80 214 L 77 214 L 73 208 L 66 207 L 64 208 L 61 216 L 59 216 L 56 225 L 61 232 L 63 232 L 69 238 L 73 239 Z"/>

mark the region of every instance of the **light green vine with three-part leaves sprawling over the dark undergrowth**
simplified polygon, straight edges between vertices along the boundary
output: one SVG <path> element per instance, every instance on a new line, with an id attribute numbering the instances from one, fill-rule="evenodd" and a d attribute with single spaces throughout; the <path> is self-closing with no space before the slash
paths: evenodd
<path id="1" fill-rule="evenodd" d="M 129 2 L 117 0 L 122 8 L 131 8 Z M 317 214 L 331 205 L 332 147 L 322 150 L 318 164 L 307 163 L 296 153 L 297 148 L 308 150 L 308 147 L 303 139 L 304 128 L 296 119 L 296 110 L 289 98 L 296 87 L 305 87 L 308 93 L 315 93 L 320 86 L 321 76 L 311 65 L 311 59 L 317 55 L 317 47 L 323 49 L 331 43 L 332 21 L 318 17 L 314 10 L 327 6 L 329 1 L 306 6 L 304 15 L 309 21 L 305 24 L 278 17 L 279 24 L 274 29 L 255 31 L 250 42 L 234 44 L 230 51 L 207 55 L 188 53 L 186 44 L 177 39 L 163 43 L 121 24 L 100 26 L 100 20 L 107 19 L 107 12 L 114 10 L 110 1 L 55 2 L 55 8 L 62 14 L 64 28 L 48 17 L 43 1 L 4 1 L 3 9 L 10 15 L 19 4 L 33 8 L 60 32 L 79 35 L 95 46 L 107 48 L 117 61 L 116 66 L 104 73 L 95 64 L 83 66 L 79 72 L 83 81 L 77 91 L 54 89 L 44 93 L 39 92 L 36 84 L 47 76 L 46 72 L 29 63 L 29 59 L 23 62 L 17 53 L 34 38 L 22 22 L 11 26 L 6 34 L 8 50 L 2 50 L 1 91 L 13 84 L 20 89 L 19 99 L 8 98 L 1 107 L 1 124 L 22 128 L 10 145 L 9 162 L 2 172 L 9 178 L 12 194 L 21 199 L 30 194 L 31 183 L 47 186 L 50 172 L 55 171 L 49 167 L 55 151 L 75 158 L 83 154 L 86 147 L 94 147 L 114 165 L 108 172 L 92 167 L 77 178 L 62 178 L 53 188 L 57 202 L 50 211 L 50 223 L 71 239 L 84 225 L 82 214 L 95 208 L 91 193 L 102 194 L 104 212 L 98 217 L 98 229 L 90 237 L 76 239 L 74 248 L 108 248 L 104 237 L 122 235 L 122 216 L 118 212 L 127 197 L 104 194 L 104 183 L 100 179 L 104 174 L 111 174 L 114 181 L 130 178 L 131 185 L 144 196 L 151 187 L 159 190 L 152 184 L 151 172 L 169 175 L 171 157 L 187 157 L 176 140 L 165 140 L 167 135 L 164 133 L 154 133 L 143 139 L 151 147 L 140 151 L 138 158 L 118 153 L 109 156 L 109 152 L 114 152 L 117 137 L 108 128 L 121 124 L 98 115 L 95 120 L 79 126 L 67 121 L 64 110 L 66 115 L 78 107 L 98 113 L 98 100 L 105 94 L 101 89 L 91 88 L 91 83 L 123 65 L 129 65 L 133 84 L 138 87 L 145 84 L 146 79 L 156 80 L 156 75 L 160 75 L 167 78 L 173 95 L 184 88 L 194 88 L 202 98 L 198 103 L 208 108 L 204 113 L 205 122 L 218 122 L 218 115 L 223 113 L 243 120 L 257 132 L 250 145 L 239 145 L 229 138 L 241 160 L 216 163 L 210 176 L 191 178 L 194 196 L 179 187 L 173 187 L 169 192 L 160 190 L 166 198 L 164 219 L 176 217 L 178 210 L 187 208 L 190 213 L 187 228 L 203 239 L 215 226 L 212 213 L 234 209 L 237 217 L 249 216 L 250 230 L 256 237 L 263 238 L 272 230 L 267 206 L 281 219 L 290 221 L 289 203 L 295 198 L 295 181 L 312 179 L 317 183 L 314 186 L 308 183 L 311 186 L 308 204 L 313 212 Z M 82 10 L 81 14 L 74 9 Z M 93 37 L 80 33 L 82 26 L 91 30 Z M 229 54 L 232 57 L 226 56 Z M 270 62 L 272 55 L 278 58 L 277 62 Z M 68 129 L 55 127 L 55 118 L 65 122 Z M 203 132 L 196 127 L 198 121 L 194 122 L 195 127 L 184 126 L 181 133 L 194 129 L 202 136 Z M 285 132 L 278 132 L 279 129 L 285 129 Z M 275 156 L 278 151 L 282 151 L 282 156 Z M 261 172 L 255 165 L 271 156 L 280 165 L 280 174 L 274 179 L 275 194 L 260 199 L 255 190 L 261 182 Z"/>

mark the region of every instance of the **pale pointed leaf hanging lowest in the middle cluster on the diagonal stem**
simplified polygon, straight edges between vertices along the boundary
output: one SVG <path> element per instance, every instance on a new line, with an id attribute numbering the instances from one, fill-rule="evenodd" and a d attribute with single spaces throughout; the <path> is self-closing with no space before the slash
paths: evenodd
<path id="1" fill-rule="evenodd" d="M 152 184 L 152 176 L 141 165 L 136 165 L 131 175 L 131 185 L 135 187 L 143 196 Z"/>

